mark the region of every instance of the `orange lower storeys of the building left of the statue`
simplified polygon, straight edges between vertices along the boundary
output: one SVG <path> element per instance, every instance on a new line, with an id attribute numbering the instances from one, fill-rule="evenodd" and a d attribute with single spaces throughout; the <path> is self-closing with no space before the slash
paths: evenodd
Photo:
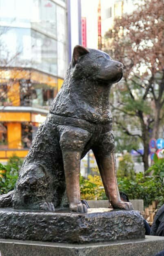
<path id="1" fill-rule="evenodd" d="M 45 120 L 49 104 L 63 79 L 33 69 L 18 68 L 1 70 L 0 77 L 0 159 L 6 158 L 11 151 L 25 157 L 26 149 L 29 149 L 38 126 Z"/>

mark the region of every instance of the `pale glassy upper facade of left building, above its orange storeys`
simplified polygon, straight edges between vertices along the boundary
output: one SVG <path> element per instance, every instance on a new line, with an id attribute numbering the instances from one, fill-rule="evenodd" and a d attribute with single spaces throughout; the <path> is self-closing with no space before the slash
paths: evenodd
<path id="1" fill-rule="evenodd" d="M 64 1 L 0 0 L 0 32 L 5 48 L 1 47 L 1 56 L 10 59 L 18 55 L 10 66 L 64 77 L 68 66 Z"/>

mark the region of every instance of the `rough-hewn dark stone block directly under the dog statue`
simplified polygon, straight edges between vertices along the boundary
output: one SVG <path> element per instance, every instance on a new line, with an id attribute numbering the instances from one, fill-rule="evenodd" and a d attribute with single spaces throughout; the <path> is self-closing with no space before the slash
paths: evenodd
<path id="1" fill-rule="evenodd" d="M 88 213 L 0 209 L 0 238 L 90 243 L 144 238 L 139 211 L 89 209 Z"/>

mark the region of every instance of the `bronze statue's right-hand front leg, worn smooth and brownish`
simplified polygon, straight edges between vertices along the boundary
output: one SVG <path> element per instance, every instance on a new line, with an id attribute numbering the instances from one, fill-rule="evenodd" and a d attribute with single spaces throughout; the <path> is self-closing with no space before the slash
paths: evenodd
<path id="1" fill-rule="evenodd" d="M 100 136 L 101 143 L 93 148 L 105 193 L 111 202 L 113 208 L 133 210 L 129 202 L 123 202 L 120 199 L 120 193 L 117 186 L 117 174 L 114 153 L 114 136 L 112 132 L 104 133 Z"/>

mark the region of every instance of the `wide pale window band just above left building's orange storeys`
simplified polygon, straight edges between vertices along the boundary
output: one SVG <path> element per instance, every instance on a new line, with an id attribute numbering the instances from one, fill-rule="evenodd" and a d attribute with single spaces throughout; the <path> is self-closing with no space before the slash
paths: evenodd
<path id="1" fill-rule="evenodd" d="M 28 28 L 0 27 L 0 64 L 31 66 L 57 75 L 57 41 Z"/>

